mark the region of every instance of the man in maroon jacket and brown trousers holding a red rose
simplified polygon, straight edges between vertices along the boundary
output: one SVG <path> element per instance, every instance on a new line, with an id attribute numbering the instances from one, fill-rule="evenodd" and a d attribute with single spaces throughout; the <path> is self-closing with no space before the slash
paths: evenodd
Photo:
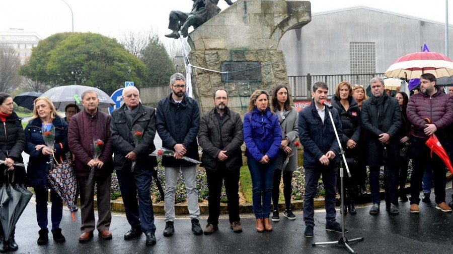
<path id="1" fill-rule="evenodd" d="M 80 203 L 82 211 L 82 234 L 79 242 L 93 238 L 95 229 L 94 186 L 97 185 L 98 223 L 96 228 L 103 239 L 112 239 L 109 231 L 112 214 L 110 212 L 110 185 L 113 171 L 112 140 L 110 138 L 110 115 L 99 111 L 99 97 L 94 90 L 82 93 L 85 110 L 71 118 L 67 137 L 69 149 L 75 157 L 75 175 L 79 178 Z M 99 142 L 102 141 L 102 142 Z M 94 143 L 100 146 L 100 156 L 95 158 Z M 95 168 L 93 180 L 90 171 Z"/>

